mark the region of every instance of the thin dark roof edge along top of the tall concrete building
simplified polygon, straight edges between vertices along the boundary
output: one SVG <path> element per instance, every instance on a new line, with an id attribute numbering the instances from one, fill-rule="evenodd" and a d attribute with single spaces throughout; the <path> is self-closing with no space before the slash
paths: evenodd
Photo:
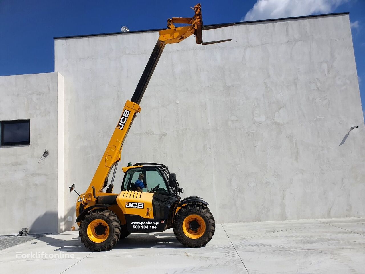
<path id="1" fill-rule="evenodd" d="M 311 17 L 319 17 L 319 16 L 331 16 L 331 15 L 343 15 L 343 14 L 350 14 L 350 12 L 337 12 L 337 13 L 328 13 L 328 14 L 315 14 L 315 15 L 296 16 L 296 17 L 285 17 L 285 18 L 265 19 L 265 20 L 244 21 L 244 22 L 237 22 L 235 24 L 272 22 L 272 21 L 280 21 L 280 20 L 301 19 L 301 18 L 311 18 Z M 227 24 L 227 23 L 224 23 L 224 24 Z M 210 25 L 205 25 L 205 26 L 219 26 L 219 25 L 224 25 L 224 24 L 210 24 Z M 77 38 L 77 37 L 112 35 L 112 34 L 144 33 L 144 32 L 147 32 L 147 31 L 160 31 L 160 30 L 166 30 L 166 28 L 155 28 L 153 30 L 132 30 L 132 31 L 128 31 L 128 32 L 117 32 L 117 33 L 97 33 L 97 34 L 84 34 L 84 35 L 73 35 L 73 36 L 60 36 L 60 37 L 53 37 L 53 39 Z"/>

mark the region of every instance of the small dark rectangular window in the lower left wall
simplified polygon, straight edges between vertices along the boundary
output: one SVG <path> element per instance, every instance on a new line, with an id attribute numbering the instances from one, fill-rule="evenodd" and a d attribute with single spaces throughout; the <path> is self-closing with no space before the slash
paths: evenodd
<path id="1" fill-rule="evenodd" d="M 30 143 L 30 119 L 0 122 L 0 145 L 27 145 Z"/>

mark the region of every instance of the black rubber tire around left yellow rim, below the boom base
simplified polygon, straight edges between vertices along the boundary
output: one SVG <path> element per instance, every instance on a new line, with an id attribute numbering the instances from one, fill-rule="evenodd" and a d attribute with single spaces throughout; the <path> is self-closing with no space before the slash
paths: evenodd
<path id="1" fill-rule="evenodd" d="M 108 236 L 100 243 L 96 243 L 88 236 L 88 226 L 92 221 L 101 220 L 104 222 L 105 230 L 108 229 Z M 81 243 L 89 248 L 91 251 L 108 251 L 111 250 L 116 243 L 118 243 L 121 235 L 120 220 L 114 212 L 111 210 L 96 210 L 87 213 L 81 220 L 79 230 L 79 236 L 81 237 Z"/>

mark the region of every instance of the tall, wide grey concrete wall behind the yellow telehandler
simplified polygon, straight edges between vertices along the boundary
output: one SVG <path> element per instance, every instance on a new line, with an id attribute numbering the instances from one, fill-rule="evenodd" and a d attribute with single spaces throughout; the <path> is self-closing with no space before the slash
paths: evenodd
<path id="1" fill-rule="evenodd" d="M 364 216 L 365 130 L 349 16 L 203 35 L 232 41 L 202 46 L 190 37 L 165 47 L 121 164 L 165 163 L 184 196 L 203 197 L 218 222 Z M 157 38 L 55 40 L 55 71 L 65 77 L 65 184 L 80 193 Z M 352 125 L 360 128 L 340 145 Z M 65 212 L 76 198 L 65 193 Z"/>

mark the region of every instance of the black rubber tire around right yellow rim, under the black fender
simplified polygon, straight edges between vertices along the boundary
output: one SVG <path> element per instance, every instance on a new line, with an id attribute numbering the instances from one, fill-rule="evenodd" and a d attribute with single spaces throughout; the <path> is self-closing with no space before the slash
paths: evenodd
<path id="1" fill-rule="evenodd" d="M 192 239 L 184 232 L 183 225 L 186 218 L 191 215 L 197 215 L 201 221 L 204 221 L 205 231 L 201 232 L 201 236 L 197 239 Z M 188 220 L 188 219 L 187 219 Z M 215 231 L 215 221 L 209 208 L 202 204 L 188 204 L 181 208 L 174 218 L 174 234 L 176 239 L 186 247 L 203 247 L 213 237 Z"/>

